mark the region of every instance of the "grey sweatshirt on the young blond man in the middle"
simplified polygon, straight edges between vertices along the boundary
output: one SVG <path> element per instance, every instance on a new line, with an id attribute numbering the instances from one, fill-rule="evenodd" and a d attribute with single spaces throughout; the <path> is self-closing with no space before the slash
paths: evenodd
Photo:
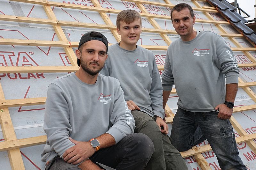
<path id="1" fill-rule="evenodd" d="M 128 51 L 114 44 L 108 48 L 108 58 L 100 73 L 117 78 L 124 99 L 134 101 L 140 111 L 164 118 L 163 88 L 151 51 L 140 46 Z"/>

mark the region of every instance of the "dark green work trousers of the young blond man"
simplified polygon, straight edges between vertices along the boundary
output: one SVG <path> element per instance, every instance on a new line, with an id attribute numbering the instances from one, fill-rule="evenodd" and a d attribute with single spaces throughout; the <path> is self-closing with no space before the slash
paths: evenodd
<path id="1" fill-rule="evenodd" d="M 188 167 L 180 152 L 171 144 L 171 139 L 161 133 L 156 118 L 145 112 L 132 110 L 136 128 L 134 133 L 143 133 L 153 142 L 155 152 L 146 166 L 146 170 L 187 170 Z"/>

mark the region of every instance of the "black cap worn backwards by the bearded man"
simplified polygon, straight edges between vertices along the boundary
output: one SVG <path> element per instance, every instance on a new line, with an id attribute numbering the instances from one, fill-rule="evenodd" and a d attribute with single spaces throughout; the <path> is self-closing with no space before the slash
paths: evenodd
<path id="1" fill-rule="evenodd" d="M 80 39 L 78 48 L 80 48 L 81 45 L 83 45 L 85 42 L 91 41 L 91 40 L 102 41 L 107 47 L 106 52 L 108 52 L 108 39 L 102 33 L 95 32 L 95 31 L 85 33 Z M 79 59 L 77 59 L 77 65 L 80 66 L 80 60 Z"/>

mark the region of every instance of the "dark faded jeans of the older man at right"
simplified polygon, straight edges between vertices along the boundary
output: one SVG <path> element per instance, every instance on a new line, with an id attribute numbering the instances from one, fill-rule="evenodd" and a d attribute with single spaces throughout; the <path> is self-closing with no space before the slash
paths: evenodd
<path id="1" fill-rule="evenodd" d="M 218 118 L 218 113 L 189 112 L 178 107 L 172 124 L 172 145 L 182 152 L 207 139 L 222 170 L 246 170 L 238 156 L 232 125 Z"/>

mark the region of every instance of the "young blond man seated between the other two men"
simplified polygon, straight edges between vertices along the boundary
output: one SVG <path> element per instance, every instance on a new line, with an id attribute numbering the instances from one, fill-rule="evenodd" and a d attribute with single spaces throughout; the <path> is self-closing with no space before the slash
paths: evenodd
<path id="1" fill-rule="evenodd" d="M 167 136 L 163 88 L 154 54 L 136 45 L 141 33 L 140 14 L 134 10 L 121 11 L 116 27 L 121 41 L 109 47 L 101 73 L 119 80 L 135 120 L 134 132 L 146 134 L 154 143 L 155 152 L 146 169 L 186 170 L 183 158 Z"/>

